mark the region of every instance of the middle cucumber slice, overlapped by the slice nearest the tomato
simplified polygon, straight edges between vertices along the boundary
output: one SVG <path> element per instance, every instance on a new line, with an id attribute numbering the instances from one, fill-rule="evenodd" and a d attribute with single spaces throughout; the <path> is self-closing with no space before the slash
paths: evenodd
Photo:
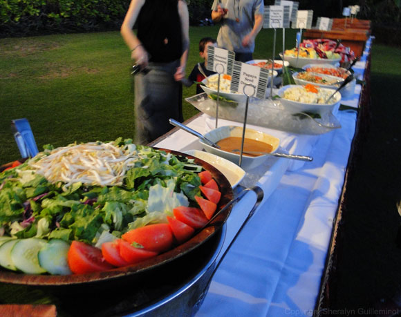
<path id="1" fill-rule="evenodd" d="M 46 240 L 38 238 L 19 240 L 11 250 L 11 260 L 15 267 L 29 274 L 46 273 L 37 258 L 37 253 L 46 243 Z"/>

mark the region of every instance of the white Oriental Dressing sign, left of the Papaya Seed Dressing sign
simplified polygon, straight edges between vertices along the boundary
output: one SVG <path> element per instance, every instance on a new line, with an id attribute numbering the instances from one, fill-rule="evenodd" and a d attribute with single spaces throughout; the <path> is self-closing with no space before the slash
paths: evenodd
<path id="1" fill-rule="evenodd" d="M 207 70 L 219 74 L 232 74 L 235 53 L 223 48 L 207 47 Z"/>

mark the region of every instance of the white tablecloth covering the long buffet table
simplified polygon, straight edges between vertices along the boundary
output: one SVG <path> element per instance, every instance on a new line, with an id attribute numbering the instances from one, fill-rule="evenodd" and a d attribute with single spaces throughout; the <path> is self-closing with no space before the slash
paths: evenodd
<path id="1" fill-rule="evenodd" d="M 354 68 L 360 79 L 369 70 L 370 47 L 371 39 Z M 355 94 L 342 100 L 346 107 L 340 108 L 336 115 L 342 128 L 329 133 L 299 135 L 247 125 L 280 137 L 284 151 L 310 155 L 314 160 L 299 162 L 270 157 L 256 171 L 247 173 L 241 184 L 260 186 L 265 193 L 263 202 L 223 258 L 196 316 L 319 314 L 321 285 L 328 268 L 326 258 L 331 254 L 333 224 L 345 188 L 356 127 L 360 126 L 361 117 L 357 113 L 366 100 L 364 93 L 366 89 L 357 84 Z M 206 133 L 214 128 L 215 119 L 201 114 L 186 124 Z M 224 125 L 241 126 L 239 122 L 219 119 L 218 126 Z M 202 149 L 196 137 L 177 129 L 151 145 L 176 151 Z M 254 200 L 254 195 L 248 193 L 232 209 L 223 251 Z"/>

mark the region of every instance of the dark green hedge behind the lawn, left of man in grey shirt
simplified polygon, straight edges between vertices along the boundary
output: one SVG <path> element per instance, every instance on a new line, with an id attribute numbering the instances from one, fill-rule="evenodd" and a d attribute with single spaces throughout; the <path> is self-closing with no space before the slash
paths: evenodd
<path id="1" fill-rule="evenodd" d="M 210 17 L 213 0 L 189 2 L 189 20 Z M 1 0 L 0 37 L 118 30 L 130 0 Z"/>

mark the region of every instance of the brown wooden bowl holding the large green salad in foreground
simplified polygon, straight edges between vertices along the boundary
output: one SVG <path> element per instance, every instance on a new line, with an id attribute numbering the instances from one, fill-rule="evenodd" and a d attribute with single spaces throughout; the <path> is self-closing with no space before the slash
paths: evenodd
<path id="1" fill-rule="evenodd" d="M 218 171 L 212 164 L 209 164 L 197 157 L 180 153 L 176 151 L 170 151 L 166 149 L 156 150 L 165 151 L 178 156 L 190 157 L 194 160 L 194 164 L 198 164 L 203 167 L 206 171 L 212 174 L 212 177 L 218 183 L 221 191 L 221 200 L 218 202 L 217 211 L 223 209 L 223 206 L 230 202 L 234 198 L 232 186 L 228 182 L 227 178 Z M 5 169 L 7 166 L 3 166 L 0 171 Z M 70 291 L 87 291 L 93 287 L 109 288 L 109 287 L 122 287 L 135 280 L 140 280 L 143 276 L 151 276 L 156 270 L 163 271 L 167 265 L 171 263 L 174 267 L 177 260 L 188 256 L 196 256 L 196 250 L 201 249 L 203 244 L 206 244 L 216 232 L 218 232 L 228 215 L 232 206 L 224 209 L 219 213 L 212 222 L 210 222 L 203 229 L 196 231 L 195 235 L 192 236 L 187 242 L 179 244 L 174 249 L 170 249 L 165 253 L 160 253 L 158 256 L 144 260 L 135 265 L 128 265 L 127 267 L 118 267 L 115 269 L 109 269 L 106 271 L 100 271 L 95 273 L 84 273 L 84 274 L 71 274 L 63 276 L 50 276 L 50 275 L 39 275 L 39 274 L 27 274 L 27 273 L 16 273 L 14 271 L 6 271 L 5 269 L 0 270 L 0 282 L 8 283 L 12 285 L 26 285 L 32 287 L 50 288 L 50 289 L 66 289 Z M 163 282 L 160 282 L 163 284 Z M 141 285 L 138 287 L 142 287 Z"/>

